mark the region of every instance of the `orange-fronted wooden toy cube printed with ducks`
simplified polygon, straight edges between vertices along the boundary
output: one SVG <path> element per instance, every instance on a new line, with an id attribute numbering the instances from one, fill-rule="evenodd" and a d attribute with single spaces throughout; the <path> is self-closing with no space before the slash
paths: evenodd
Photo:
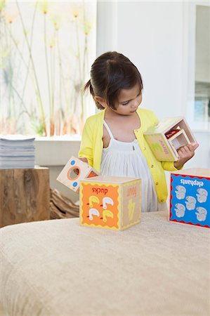
<path id="1" fill-rule="evenodd" d="M 81 180 L 79 207 L 81 225 L 125 230 L 140 222 L 140 179 Z"/>

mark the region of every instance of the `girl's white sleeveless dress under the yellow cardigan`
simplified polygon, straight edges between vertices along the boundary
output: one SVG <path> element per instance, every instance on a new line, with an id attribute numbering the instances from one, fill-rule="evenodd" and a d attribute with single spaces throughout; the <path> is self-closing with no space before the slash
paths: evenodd
<path id="1" fill-rule="evenodd" d="M 158 211 L 159 203 L 146 159 L 140 150 L 138 140 L 131 143 L 114 139 L 109 126 L 103 121 L 110 144 L 103 148 L 100 173 L 103 176 L 122 176 L 141 179 L 141 211 Z"/>

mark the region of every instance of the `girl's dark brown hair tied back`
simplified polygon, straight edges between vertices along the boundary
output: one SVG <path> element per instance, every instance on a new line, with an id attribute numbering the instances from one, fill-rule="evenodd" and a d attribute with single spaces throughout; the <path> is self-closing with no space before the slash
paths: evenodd
<path id="1" fill-rule="evenodd" d="M 91 79 L 84 86 L 84 91 L 89 89 L 93 98 L 100 96 L 107 105 L 117 110 L 120 91 L 133 88 L 138 83 L 142 90 L 143 82 L 140 72 L 131 60 L 117 51 L 109 51 L 100 55 L 93 62 Z M 95 102 L 98 109 L 103 110 L 103 106 L 96 100 Z"/>

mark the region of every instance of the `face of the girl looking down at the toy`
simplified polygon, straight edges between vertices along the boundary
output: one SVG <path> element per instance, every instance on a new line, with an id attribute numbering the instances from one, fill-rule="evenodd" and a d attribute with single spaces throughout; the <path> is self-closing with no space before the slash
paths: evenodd
<path id="1" fill-rule="evenodd" d="M 142 101 L 142 91 L 140 85 L 136 84 L 133 88 L 122 89 L 119 93 L 117 110 L 113 110 L 121 115 L 135 114 Z"/>

